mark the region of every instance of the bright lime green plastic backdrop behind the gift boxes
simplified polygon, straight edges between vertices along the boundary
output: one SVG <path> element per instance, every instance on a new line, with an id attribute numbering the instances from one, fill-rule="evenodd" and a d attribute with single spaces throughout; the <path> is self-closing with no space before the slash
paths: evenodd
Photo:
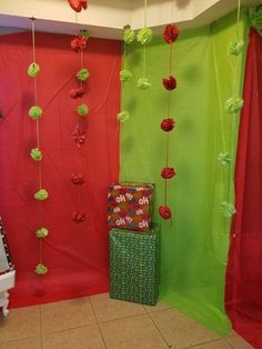
<path id="1" fill-rule="evenodd" d="M 246 38 L 246 10 L 240 28 Z M 168 92 L 162 78 L 169 74 L 169 46 L 154 38 L 147 47 L 147 77 L 152 87 L 137 89 L 142 77 L 143 48 L 128 47 L 127 69 L 133 73 L 124 84 L 122 107 L 130 119 L 121 124 L 121 180 L 157 185 L 154 221 L 161 232 L 161 296 L 196 321 L 220 335 L 230 330 L 224 312 L 224 276 L 230 220 L 220 202 L 233 200 L 233 181 L 218 162 L 218 154 L 236 142 L 238 118 L 224 112 L 224 101 L 241 90 L 245 53 L 228 54 L 235 38 L 236 13 L 212 26 L 181 32 L 174 44 L 178 88 L 172 108 L 177 128 L 170 133 L 170 164 L 178 174 L 169 181 L 168 203 L 173 225 L 160 219 L 164 180 L 160 171 L 165 160 L 165 136 L 160 122 L 167 118 Z M 235 64 L 238 71 L 235 70 Z M 239 74 L 235 80 L 234 76 Z"/>

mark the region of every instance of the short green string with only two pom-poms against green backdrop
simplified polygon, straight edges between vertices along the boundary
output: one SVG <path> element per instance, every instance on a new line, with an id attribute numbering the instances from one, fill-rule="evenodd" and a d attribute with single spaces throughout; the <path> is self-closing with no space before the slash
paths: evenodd
<path id="1" fill-rule="evenodd" d="M 147 44 L 152 40 L 153 32 L 147 27 L 148 20 L 148 2 L 144 0 L 144 28 L 138 32 L 137 40 L 143 46 L 143 76 L 138 79 L 137 87 L 141 90 L 148 90 L 151 87 L 150 80 L 147 78 Z"/>

